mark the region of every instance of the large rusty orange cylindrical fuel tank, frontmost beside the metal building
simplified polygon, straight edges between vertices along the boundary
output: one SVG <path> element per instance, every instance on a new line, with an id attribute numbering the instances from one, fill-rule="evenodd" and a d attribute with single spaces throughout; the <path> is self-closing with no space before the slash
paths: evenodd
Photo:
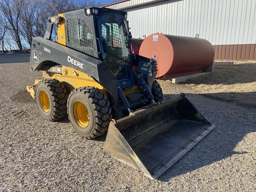
<path id="1" fill-rule="evenodd" d="M 142 41 L 139 49 L 140 56 L 156 59 L 156 77 L 161 78 L 204 72 L 214 58 L 208 40 L 185 36 L 154 33 Z"/>

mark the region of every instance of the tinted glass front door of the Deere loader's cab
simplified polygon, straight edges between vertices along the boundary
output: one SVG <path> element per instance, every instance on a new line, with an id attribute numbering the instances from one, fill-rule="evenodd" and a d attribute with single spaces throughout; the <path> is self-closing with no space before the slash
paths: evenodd
<path id="1" fill-rule="evenodd" d="M 126 88 L 138 84 L 129 56 L 131 44 L 127 21 L 119 14 L 108 13 L 97 20 L 100 53 L 108 68 Z"/>

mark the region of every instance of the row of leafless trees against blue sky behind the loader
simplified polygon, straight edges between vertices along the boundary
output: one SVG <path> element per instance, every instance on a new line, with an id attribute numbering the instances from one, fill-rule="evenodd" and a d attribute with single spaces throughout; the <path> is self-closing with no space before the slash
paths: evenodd
<path id="1" fill-rule="evenodd" d="M 98 6 L 99 0 L 0 0 L 0 45 L 20 52 L 33 36 L 44 36 L 49 16 Z M 14 45 L 13 41 L 15 42 Z M 25 45 L 24 45 L 25 44 Z"/>

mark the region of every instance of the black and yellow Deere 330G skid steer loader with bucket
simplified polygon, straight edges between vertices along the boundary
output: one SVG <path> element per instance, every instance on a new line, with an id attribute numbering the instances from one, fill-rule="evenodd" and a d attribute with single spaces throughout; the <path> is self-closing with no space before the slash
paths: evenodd
<path id="1" fill-rule="evenodd" d="M 126 18 L 95 7 L 49 17 L 29 62 L 43 76 L 27 90 L 46 120 L 68 115 L 87 139 L 108 132 L 105 150 L 155 179 L 214 126 L 184 94 L 163 100 L 156 60 L 132 54 Z"/>

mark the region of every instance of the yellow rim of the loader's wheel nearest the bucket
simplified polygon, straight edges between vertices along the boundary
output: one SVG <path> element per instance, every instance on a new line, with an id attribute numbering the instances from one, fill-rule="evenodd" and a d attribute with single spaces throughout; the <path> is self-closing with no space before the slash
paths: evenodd
<path id="1" fill-rule="evenodd" d="M 82 102 L 77 101 L 74 104 L 73 114 L 74 114 L 76 123 L 80 127 L 82 127 L 82 128 L 87 127 L 87 125 L 89 124 L 90 117 L 89 117 L 89 112 L 88 112 L 87 108 L 85 107 L 85 105 Z"/>

